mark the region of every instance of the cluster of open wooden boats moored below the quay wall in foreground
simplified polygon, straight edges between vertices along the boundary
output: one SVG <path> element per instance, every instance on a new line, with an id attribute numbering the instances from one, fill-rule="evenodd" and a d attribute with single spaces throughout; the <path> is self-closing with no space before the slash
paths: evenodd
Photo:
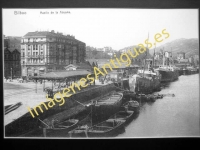
<path id="1" fill-rule="evenodd" d="M 44 137 L 114 136 L 124 132 L 125 125 L 139 113 L 139 106 L 137 101 L 123 99 L 122 91 L 112 91 L 85 105 L 89 111 L 82 120 L 66 118 L 64 121 L 59 121 L 53 118 L 47 121 L 45 119 L 40 120 L 40 128 Z"/>

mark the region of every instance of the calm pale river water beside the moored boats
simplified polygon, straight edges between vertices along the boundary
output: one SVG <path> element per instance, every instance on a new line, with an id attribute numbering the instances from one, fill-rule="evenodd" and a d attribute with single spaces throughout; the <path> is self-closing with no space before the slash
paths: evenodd
<path id="1" fill-rule="evenodd" d="M 199 74 L 179 76 L 159 94 L 175 94 L 144 103 L 139 116 L 118 138 L 200 136 Z"/>

